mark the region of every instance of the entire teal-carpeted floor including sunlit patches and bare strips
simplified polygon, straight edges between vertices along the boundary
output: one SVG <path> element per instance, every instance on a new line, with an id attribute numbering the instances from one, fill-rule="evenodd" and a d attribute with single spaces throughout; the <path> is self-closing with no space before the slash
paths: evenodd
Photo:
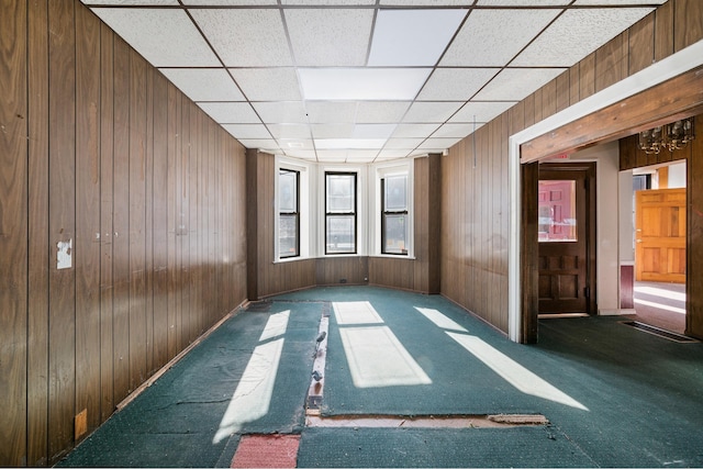
<path id="1" fill-rule="evenodd" d="M 59 466 L 701 467 L 702 393 L 703 344 L 616 317 L 525 346 L 438 295 L 316 288 L 224 322 Z"/>

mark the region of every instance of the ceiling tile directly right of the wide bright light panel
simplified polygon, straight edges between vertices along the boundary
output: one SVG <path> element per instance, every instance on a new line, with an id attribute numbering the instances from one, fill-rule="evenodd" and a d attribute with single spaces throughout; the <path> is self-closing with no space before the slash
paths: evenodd
<path id="1" fill-rule="evenodd" d="M 417 99 L 468 101 L 499 70 L 499 68 L 437 68 Z"/>

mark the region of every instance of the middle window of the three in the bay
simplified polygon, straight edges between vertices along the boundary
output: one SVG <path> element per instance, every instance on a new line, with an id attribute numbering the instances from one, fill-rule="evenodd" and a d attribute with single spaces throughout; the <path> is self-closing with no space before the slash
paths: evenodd
<path id="1" fill-rule="evenodd" d="M 325 254 L 356 254 L 356 172 L 325 172 Z"/>

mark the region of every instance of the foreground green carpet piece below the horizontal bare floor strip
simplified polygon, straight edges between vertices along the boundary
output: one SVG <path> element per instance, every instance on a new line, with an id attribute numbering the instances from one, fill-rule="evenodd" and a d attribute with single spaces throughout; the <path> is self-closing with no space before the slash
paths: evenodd
<path id="1" fill-rule="evenodd" d="M 309 428 L 298 467 L 595 467 L 549 427 Z"/>

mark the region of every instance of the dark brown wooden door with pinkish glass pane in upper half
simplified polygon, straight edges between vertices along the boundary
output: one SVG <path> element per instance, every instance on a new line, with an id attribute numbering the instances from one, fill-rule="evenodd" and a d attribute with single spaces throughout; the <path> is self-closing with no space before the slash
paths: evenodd
<path id="1" fill-rule="evenodd" d="M 590 313 L 592 167 L 540 165 L 539 313 Z"/>

